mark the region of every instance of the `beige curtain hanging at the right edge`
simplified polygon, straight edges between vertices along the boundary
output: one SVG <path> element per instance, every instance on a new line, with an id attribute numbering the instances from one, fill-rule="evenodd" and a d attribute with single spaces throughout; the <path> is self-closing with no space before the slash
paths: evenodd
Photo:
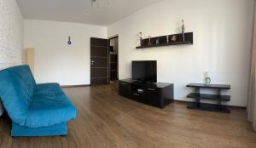
<path id="1" fill-rule="evenodd" d="M 254 30 L 253 30 L 253 51 L 251 60 L 251 71 L 249 79 L 249 89 L 247 98 L 247 114 L 248 121 L 252 122 L 253 128 L 256 131 L 256 14 L 254 1 Z"/>

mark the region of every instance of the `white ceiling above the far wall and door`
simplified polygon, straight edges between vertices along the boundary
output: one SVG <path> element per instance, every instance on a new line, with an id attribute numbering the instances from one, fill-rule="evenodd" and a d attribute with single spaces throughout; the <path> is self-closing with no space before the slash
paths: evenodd
<path id="1" fill-rule="evenodd" d="M 17 0 L 17 3 L 25 19 L 56 20 L 109 26 L 129 14 L 162 0 L 108 1 L 108 6 L 106 4 L 99 9 L 92 8 L 90 0 Z"/>

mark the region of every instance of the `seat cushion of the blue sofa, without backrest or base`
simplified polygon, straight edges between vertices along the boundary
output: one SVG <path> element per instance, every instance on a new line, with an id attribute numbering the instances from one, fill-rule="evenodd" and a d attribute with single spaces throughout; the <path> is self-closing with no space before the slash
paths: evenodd
<path id="1" fill-rule="evenodd" d="M 58 83 L 39 84 L 34 89 L 32 104 L 20 126 L 48 127 L 76 117 L 76 109 Z"/>

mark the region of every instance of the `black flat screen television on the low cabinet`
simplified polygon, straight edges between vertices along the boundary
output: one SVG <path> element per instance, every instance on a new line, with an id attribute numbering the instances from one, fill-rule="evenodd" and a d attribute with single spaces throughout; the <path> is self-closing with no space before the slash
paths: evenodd
<path id="1" fill-rule="evenodd" d="M 134 60 L 131 61 L 132 79 L 144 83 L 157 83 L 156 60 Z"/>

